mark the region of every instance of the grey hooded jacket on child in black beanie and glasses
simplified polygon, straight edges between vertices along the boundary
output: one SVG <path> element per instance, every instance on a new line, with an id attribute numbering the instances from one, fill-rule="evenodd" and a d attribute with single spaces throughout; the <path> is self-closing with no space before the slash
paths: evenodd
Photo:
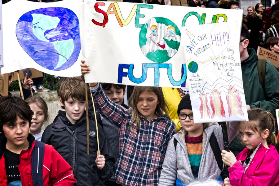
<path id="1" fill-rule="evenodd" d="M 221 126 L 218 126 L 218 123 L 210 123 L 210 125 L 211 126 L 203 131 L 202 135 L 202 155 L 197 181 L 205 181 L 209 178 L 217 179 L 221 173 L 210 147 L 209 139 L 214 132 L 218 141 L 218 144 L 216 145 L 219 145 L 220 150 L 222 151 L 224 149 L 222 128 Z M 229 142 L 231 142 L 237 134 L 237 126 L 238 122 L 229 123 Z M 175 134 L 173 138 L 170 139 L 159 179 L 160 186 L 173 186 L 176 183 L 176 178 L 186 185 L 195 181 L 185 143 L 186 133 L 187 131 L 182 130 L 181 133 Z M 176 151 L 173 143 L 174 138 L 178 141 Z"/>

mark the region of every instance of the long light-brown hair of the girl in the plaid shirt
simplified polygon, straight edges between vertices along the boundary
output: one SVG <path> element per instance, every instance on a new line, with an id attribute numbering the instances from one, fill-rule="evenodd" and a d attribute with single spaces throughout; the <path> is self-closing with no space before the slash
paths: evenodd
<path id="1" fill-rule="evenodd" d="M 132 115 L 132 120 L 130 123 L 130 130 L 132 132 L 133 131 L 133 124 L 134 122 L 136 122 L 136 130 L 139 130 L 139 123 L 140 123 L 140 113 L 139 110 L 137 109 L 137 104 L 139 101 L 139 96 L 143 91 L 149 91 L 149 92 L 153 92 L 157 95 L 158 97 L 158 101 L 159 104 L 157 104 L 157 107 L 155 109 L 155 115 L 161 116 L 164 113 L 168 113 L 169 111 L 169 106 L 166 104 L 166 100 L 162 91 L 162 87 L 158 87 L 158 86 L 135 86 L 133 94 L 131 95 L 128 103 L 131 103 L 131 105 L 129 105 L 133 111 L 133 115 Z M 132 114 L 132 113 L 131 113 Z M 169 115 L 167 114 L 168 118 Z"/>

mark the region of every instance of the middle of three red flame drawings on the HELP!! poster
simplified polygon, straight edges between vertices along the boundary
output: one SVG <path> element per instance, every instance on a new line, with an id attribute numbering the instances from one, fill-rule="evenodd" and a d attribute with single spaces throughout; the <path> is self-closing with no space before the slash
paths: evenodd
<path id="1" fill-rule="evenodd" d="M 212 108 L 212 115 L 211 115 L 211 119 L 214 117 L 226 117 L 225 116 L 225 110 L 224 110 L 224 105 L 223 105 L 223 101 L 221 99 L 221 95 L 220 92 L 217 91 L 217 89 L 214 89 L 211 92 L 210 95 L 210 105 Z"/>

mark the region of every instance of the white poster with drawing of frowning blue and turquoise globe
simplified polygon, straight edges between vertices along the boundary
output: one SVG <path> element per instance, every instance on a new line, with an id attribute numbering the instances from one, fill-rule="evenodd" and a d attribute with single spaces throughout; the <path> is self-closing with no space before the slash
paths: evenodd
<path id="1" fill-rule="evenodd" d="M 2 73 L 34 68 L 57 76 L 81 75 L 78 2 L 12 0 L 4 4 Z"/>

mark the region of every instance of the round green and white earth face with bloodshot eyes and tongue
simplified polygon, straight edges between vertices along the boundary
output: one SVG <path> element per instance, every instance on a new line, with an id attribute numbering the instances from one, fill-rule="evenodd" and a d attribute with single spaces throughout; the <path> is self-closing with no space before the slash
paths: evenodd
<path id="1" fill-rule="evenodd" d="M 153 17 L 139 32 L 139 47 L 143 54 L 155 63 L 164 63 L 179 49 L 181 33 L 169 19 Z"/>

